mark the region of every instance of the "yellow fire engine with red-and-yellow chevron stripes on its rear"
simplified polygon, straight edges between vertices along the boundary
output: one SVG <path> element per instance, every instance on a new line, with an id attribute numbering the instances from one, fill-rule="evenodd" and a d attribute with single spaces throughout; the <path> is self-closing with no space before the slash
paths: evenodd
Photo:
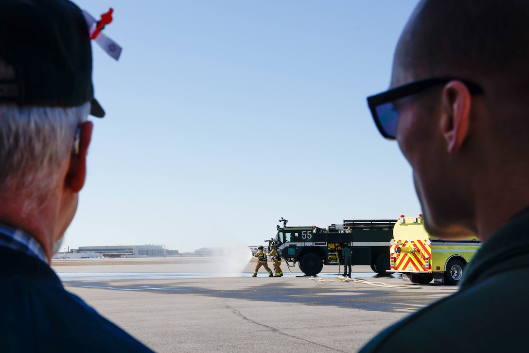
<path id="1" fill-rule="evenodd" d="M 418 217 L 400 216 L 390 241 L 390 270 L 402 273 L 413 283 L 456 285 L 464 267 L 476 254 L 479 239 L 443 240 L 424 229 L 422 214 Z"/>

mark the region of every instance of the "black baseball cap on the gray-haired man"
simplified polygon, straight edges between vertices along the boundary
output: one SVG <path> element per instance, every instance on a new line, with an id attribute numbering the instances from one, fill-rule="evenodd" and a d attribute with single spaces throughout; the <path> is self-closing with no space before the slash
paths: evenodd
<path id="1" fill-rule="evenodd" d="M 0 0 L 0 59 L 15 69 L 0 79 L 0 102 L 74 107 L 94 98 L 92 46 L 83 12 L 67 0 Z"/>

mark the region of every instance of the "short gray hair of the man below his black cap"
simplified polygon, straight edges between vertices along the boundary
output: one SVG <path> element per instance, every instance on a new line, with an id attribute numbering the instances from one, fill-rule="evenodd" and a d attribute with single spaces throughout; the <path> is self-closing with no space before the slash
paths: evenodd
<path id="1" fill-rule="evenodd" d="M 0 79 L 12 75 L 0 60 Z M 89 111 L 90 103 L 71 108 L 0 105 L 0 198 L 17 192 L 31 207 L 42 207 Z"/>

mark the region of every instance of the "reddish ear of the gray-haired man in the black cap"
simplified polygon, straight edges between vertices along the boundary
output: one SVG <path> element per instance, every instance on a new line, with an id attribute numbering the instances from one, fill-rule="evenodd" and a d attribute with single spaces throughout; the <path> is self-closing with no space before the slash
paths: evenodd
<path id="1" fill-rule="evenodd" d="M 70 167 L 65 179 L 65 187 L 70 188 L 75 193 L 78 193 L 85 185 L 86 155 L 92 139 L 93 128 L 94 124 L 91 121 L 86 121 L 78 126 L 78 148 L 76 141 L 70 156 Z"/>

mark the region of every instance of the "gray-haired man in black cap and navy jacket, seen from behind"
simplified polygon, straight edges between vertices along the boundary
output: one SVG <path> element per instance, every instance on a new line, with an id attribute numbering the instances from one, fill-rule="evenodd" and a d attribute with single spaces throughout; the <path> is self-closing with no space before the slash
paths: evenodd
<path id="1" fill-rule="evenodd" d="M 66 0 L 0 0 L 0 351 L 150 351 L 50 268 L 86 176 L 87 22 Z"/>

